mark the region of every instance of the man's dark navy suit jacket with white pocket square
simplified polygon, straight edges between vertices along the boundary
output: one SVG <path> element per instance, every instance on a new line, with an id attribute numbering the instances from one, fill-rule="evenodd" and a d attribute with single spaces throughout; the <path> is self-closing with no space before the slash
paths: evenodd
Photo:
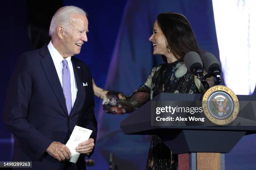
<path id="1" fill-rule="evenodd" d="M 76 57 L 71 60 L 78 91 L 68 115 L 47 45 L 26 52 L 18 59 L 9 82 L 3 114 L 3 120 L 15 136 L 13 160 L 33 161 L 32 167 L 36 170 L 85 169 L 83 154 L 74 164 L 61 163 L 46 153 L 53 141 L 66 143 L 75 125 L 92 130 L 91 138 L 96 141 L 91 72 Z M 87 86 L 83 86 L 83 82 Z"/>

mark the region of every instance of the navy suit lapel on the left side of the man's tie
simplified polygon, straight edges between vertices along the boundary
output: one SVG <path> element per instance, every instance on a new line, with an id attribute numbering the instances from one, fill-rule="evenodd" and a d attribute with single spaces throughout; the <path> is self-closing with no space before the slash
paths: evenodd
<path id="1" fill-rule="evenodd" d="M 47 45 L 45 45 L 44 47 L 42 47 L 40 49 L 40 54 L 44 57 L 43 59 L 41 59 L 41 64 L 44 68 L 46 77 L 47 77 L 62 109 L 64 110 L 66 115 L 68 115 L 66 100 L 65 100 L 65 97 L 63 94 L 61 84 L 59 82 L 59 77 L 58 77 L 54 62 L 51 58 L 51 54 L 47 48 Z"/>

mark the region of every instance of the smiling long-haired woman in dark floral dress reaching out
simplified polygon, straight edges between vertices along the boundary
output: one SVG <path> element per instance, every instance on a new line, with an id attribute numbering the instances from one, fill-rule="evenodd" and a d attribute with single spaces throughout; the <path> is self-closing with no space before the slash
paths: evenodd
<path id="1" fill-rule="evenodd" d="M 132 95 L 107 91 L 94 83 L 94 93 L 103 100 L 105 112 L 121 115 L 136 110 L 161 92 L 202 93 L 200 80 L 187 70 L 183 63 L 189 51 L 200 54 L 195 35 L 187 18 L 179 13 L 161 13 L 149 37 L 153 54 L 162 55 L 164 64 L 153 67 L 147 80 Z M 210 86 L 212 80 L 207 79 Z M 177 164 L 176 164 L 177 165 Z M 146 170 L 176 169 L 173 154 L 157 135 L 152 136 Z"/>

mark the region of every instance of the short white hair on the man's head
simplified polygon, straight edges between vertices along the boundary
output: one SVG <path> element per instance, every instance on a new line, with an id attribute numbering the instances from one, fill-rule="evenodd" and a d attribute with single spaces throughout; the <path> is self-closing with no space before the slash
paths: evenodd
<path id="1" fill-rule="evenodd" d="M 74 14 L 83 14 L 87 16 L 87 13 L 84 10 L 75 6 L 61 7 L 59 8 L 59 10 L 56 11 L 51 19 L 51 25 L 49 29 L 49 35 L 51 36 L 51 38 L 54 35 L 54 31 L 56 31 L 56 28 L 59 25 L 62 25 L 65 30 L 69 29 L 70 18 Z"/>

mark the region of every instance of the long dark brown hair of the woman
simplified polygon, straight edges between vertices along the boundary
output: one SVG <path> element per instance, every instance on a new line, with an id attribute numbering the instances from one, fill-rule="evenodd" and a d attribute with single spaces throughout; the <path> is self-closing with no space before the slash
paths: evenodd
<path id="1" fill-rule="evenodd" d="M 187 18 L 179 13 L 160 13 L 157 16 L 157 23 L 161 28 L 171 52 L 174 56 L 183 61 L 184 55 L 189 51 L 200 54 L 194 32 Z M 164 62 L 167 59 L 162 55 Z"/>

